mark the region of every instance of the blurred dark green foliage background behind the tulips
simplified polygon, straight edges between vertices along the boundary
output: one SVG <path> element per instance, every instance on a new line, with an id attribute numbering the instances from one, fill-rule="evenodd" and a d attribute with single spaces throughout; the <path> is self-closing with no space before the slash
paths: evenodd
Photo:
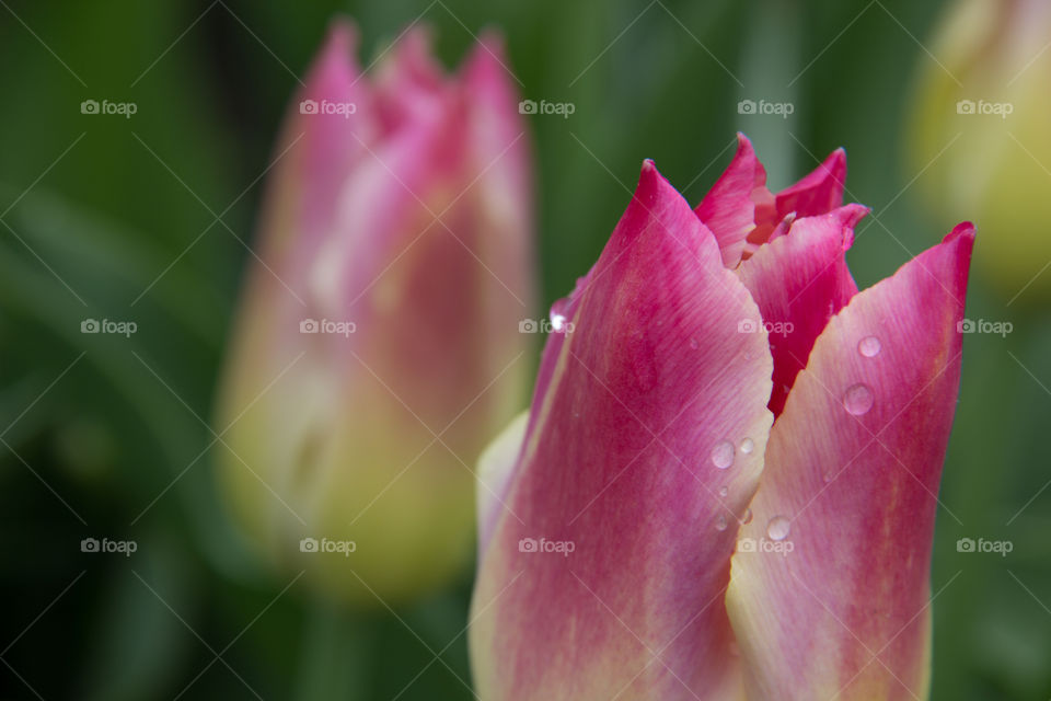
<path id="1" fill-rule="evenodd" d="M 471 698 L 470 572 L 396 612 L 286 590 L 239 544 L 206 451 L 256 179 L 334 13 L 359 24 L 366 61 L 417 19 L 447 66 L 500 27 L 523 96 L 575 104 L 529 120 L 546 309 L 596 260 L 644 158 L 696 202 L 738 129 L 774 187 L 846 148 L 848 199 L 878 217 L 848 256 L 859 286 L 936 242 L 947 222 L 905 189 L 902 131 L 942 4 L 0 2 L 0 696 Z M 743 97 L 795 112 L 739 115 Z M 86 99 L 138 113 L 83 115 Z M 968 315 L 1014 332 L 966 338 L 934 547 L 935 699 L 1051 696 L 1051 329 L 1043 300 L 1007 299 L 974 276 Z M 89 317 L 139 332 L 82 335 Z M 103 536 L 138 551 L 80 552 Z M 962 537 L 1014 550 L 958 553 Z"/>

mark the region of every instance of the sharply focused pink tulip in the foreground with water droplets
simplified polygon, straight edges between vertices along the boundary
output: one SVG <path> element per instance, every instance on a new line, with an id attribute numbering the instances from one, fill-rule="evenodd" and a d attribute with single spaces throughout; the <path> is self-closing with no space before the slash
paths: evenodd
<path id="1" fill-rule="evenodd" d="M 483 701 L 926 693 L 974 231 L 858 291 L 844 176 L 741 137 L 694 211 L 644 163 L 481 460 Z"/>

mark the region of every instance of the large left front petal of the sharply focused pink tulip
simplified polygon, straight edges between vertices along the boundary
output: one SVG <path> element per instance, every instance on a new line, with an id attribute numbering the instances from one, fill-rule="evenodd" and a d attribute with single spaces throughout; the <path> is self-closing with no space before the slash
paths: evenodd
<path id="1" fill-rule="evenodd" d="M 738 332 L 759 310 L 649 162 L 557 310 L 475 585 L 478 694 L 737 698 L 721 600 L 772 422 L 765 334 Z"/>

